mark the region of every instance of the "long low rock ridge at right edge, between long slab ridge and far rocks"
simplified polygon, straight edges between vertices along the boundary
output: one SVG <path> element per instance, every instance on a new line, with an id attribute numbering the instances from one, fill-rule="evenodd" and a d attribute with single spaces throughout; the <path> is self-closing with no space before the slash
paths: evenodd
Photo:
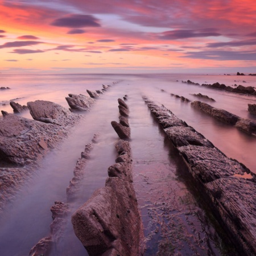
<path id="1" fill-rule="evenodd" d="M 209 115 L 212 115 L 212 117 L 220 120 L 221 122 L 234 125 L 245 133 L 256 135 L 256 123 L 250 119 L 238 117 L 237 115 L 227 112 L 223 109 L 213 108 L 209 104 L 201 101 L 193 101 L 191 102 L 191 106 L 193 106 L 193 108 L 200 109 Z"/>

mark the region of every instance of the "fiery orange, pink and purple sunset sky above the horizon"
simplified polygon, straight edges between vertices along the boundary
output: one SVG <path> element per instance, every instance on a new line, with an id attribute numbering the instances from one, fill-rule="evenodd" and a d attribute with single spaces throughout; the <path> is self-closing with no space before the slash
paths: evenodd
<path id="1" fill-rule="evenodd" d="M 255 0 L 0 0 L 1 73 L 256 73 Z"/>

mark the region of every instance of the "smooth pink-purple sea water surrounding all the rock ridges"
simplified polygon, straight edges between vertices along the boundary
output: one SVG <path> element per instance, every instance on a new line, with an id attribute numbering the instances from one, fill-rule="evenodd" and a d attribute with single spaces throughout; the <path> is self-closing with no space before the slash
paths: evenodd
<path id="1" fill-rule="evenodd" d="M 100 139 L 92 151 L 92 160 L 86 166 L 86 175 L 82 180 L 79 199 L 74 209 L 89 199 L 90 195 L 105 185 L 108 167 L 114 163 L 117 141 L 111 121 L 118 121 L 118 98 L 127 94 L 127 105 L 130 108 L 129 122 L 131 126 L 131 149 L 134 163 L 134 187 L 141 209 L 146 244 L 145 255 L 165 255 L 164 246 L 172 250 L 171 255 L 181 252 L 192 255 L 196 250 L 200 255 L 212 251 L 209 255 L 220 255 L 220 237 L 213 242 L 216 227 L 206 225 L 199 218 L 207 212 L 201 209 L 193 190 L 192 177 L 152 118 L 142 96 L 156 104 L 163 104 L 178 118 L 187 122 L 205 138 L 219 148 L 229 158 L 237 159 L 256 173 L 255 152 L 256 137 L 242 133 L 236 127 L 221 123 L 207 114 L 193 109 L 189 103 L 181 102 L 170 94 L 184 96 L 191 101 L 200 100 L 225 109 L 239 117 L 249 118 L 256 122 L 256 116 L 247 111 L 247 104 L 256 104 L 256 97 L 234 94 L 209 89 L 196 85 L 184 84 L 191 80 L 199 84 L 220 82 L 225 85 L 234 84 L 254 86 L 255 76 L 236 75 L 202 75 L 202 74 L 67 74 L 67 75 L 35 75 L 35 74 L 0 74 L 0 86 L 9 90 L 0 90 L 0 107 L 13 113 L 10 100 L 21 105 L 29 101 L 47 100 L 69 108 L 65 97 L 69 93 L 88 95 L 86 89 L 102 89 L 102 84 L 111 85 L 108 92 L 102 94 L 89 112 L 83 113 L 85 118 L 63 143 L 43 160 L 42 168 L 28 180 L 20 190 L 17 199 L 6 208 L 6 216 L 1 220 L 0 255 L 28 255 L 32 246 L 49 233 L 51 224 L 50 208 L 54 201 L 65 201 L 65 188 L 73 176 L 73 168 L 85 144 L 99 133 Z M 213 98 L 210 102 L 192 96 L 201 93 Z M 20 113 L 22 117 L 31 118 L 28 111 Z M 163 203 L 166 207 L 163 209 Z M 170 218 L 171 214 L 171 218 Z M 198 216 L 197 216 L 198 215 Z M 196 232 L 205 237 L 206 242 L 196 243 L 196 233 L 185 225 L 193 221 Z M 167 225 L 172 223 L 172 226 Z M 202 228 L 202 225 L 205 225 Z M 172 227 L 172 228 L 171 228 Z M 213 237 L 208 236 L 205 229 L 214 230 Z M 183 236 L 174 238 L 174 232 L 181 230 Z M 182 231 L 183 230 L 183 231 Z M 209 233 L 211 233 L 209 231 Z M 209 246 L 209 244 L 211 246 Z M 210 247 L 210 249 L 209 249 Z M 221 247 L 221 246 L 220 246 Z M 196 249 L 195 249 L 196 248 Z M 213 249 L 215 248 L 215 249 Z M 86 255 L 80 241 L 72 233 L 71 224 L 66 230 L 63 241 L 57 245 L 52 255 Z M 166 254 L 168 255 L 168 254 Z M 178 255 L 178 254 L 177 254 Z"/>

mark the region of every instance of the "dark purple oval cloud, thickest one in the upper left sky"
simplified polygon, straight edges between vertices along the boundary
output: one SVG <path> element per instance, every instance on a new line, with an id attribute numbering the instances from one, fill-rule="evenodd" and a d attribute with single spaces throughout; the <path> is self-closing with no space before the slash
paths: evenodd
<path id="1" fill-rule="evenodd" d="M 64 18 L 59 18 L 51 23 L 52 26 L 57 27 L 70 27 L 70 28 L 81 28 L 81 27 L 100 27 L 98 19 L 92 15 L 81 15 L 73 14 Z"/>

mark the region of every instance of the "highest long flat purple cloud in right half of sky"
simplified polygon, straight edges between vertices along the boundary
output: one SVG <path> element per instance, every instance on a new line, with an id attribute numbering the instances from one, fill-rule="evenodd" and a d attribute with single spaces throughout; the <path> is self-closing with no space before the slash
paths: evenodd
<path id="1" fill-rule="evenodd" d="M 163 40 L 175 40 L 185 38 L 205 38 L 208 36 L 220 36 L 221 34 L 214 32 L 214 29 L 210 28 L 207 30 L 172 30 L 163 32 L 159 36 Z"/>

